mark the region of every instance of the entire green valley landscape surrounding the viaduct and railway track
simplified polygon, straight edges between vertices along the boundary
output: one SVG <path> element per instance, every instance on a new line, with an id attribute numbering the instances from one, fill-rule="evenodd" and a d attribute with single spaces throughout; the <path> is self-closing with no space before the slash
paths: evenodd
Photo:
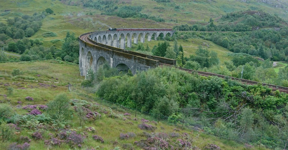
<path id="1" fill-rule="evenodd" d="M 171 28 L 172 37 L 125 49 L 288 87 L 287 7 L 286 0 L 1 1 L 0 147 L 287 149 L 286 93 L 166 67 L 132 76 L 104 64 L 85 80 L 77 39 L 109 27 Z"/>

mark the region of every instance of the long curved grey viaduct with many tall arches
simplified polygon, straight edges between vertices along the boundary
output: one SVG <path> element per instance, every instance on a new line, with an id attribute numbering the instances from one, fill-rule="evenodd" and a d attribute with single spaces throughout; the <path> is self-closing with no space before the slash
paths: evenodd
<path id="1" fill-rule="evenodd" d="M 79 36 L 79 69 L 81 76 L 86 76 L 87 70 L 96 71 L 100 65 L 108 62 L 110 67 L 116 67 L 120 71 L 131 70 L 136 74 L 137 70 L 148 70 L 159 64 L 176 64 L 173 59 L 146 55 L 139 52 L 124 50 L 125 46 L 132 46 L 132 38 L 135 44 L 140 39 L 151 41 L 161 34 L 172 36 L 171 29 L 117 29 L 116 31 L 99 31 L 84 33 Z M 146 38 L 145 38 L 146 37 Z"/>

